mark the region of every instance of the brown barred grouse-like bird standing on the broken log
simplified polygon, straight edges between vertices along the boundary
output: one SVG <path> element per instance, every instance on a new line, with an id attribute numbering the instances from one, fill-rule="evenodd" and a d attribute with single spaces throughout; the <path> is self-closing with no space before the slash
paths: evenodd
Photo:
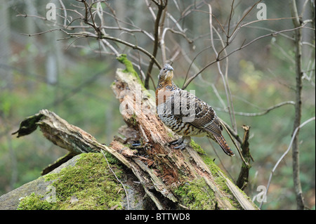
<path id="1" fill-rule="evenodd" d="M 222 136 L 223 127 L 213 108 L 194 94 L 173 84 L 173 67 L 166 64 L 160 70 L 156 88 L 156 106 L 159 118 L 172 131 L 183 138 L 175 140 L 175 148 L 184 149 L 190 136 L 206 136 L 214 140 L 223 151 L 234 156 Z"/>

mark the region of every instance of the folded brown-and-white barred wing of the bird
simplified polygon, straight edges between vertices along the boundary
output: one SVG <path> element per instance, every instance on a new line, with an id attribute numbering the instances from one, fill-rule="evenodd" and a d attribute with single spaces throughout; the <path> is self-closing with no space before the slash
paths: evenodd
<path id="1" fill-rule="evenodd" d="M 174 115 L 198 129 L 221 136 L 223 127 L 220 125 L 216 112 L 194 94 L 179 90 L 173 95 Z"/>

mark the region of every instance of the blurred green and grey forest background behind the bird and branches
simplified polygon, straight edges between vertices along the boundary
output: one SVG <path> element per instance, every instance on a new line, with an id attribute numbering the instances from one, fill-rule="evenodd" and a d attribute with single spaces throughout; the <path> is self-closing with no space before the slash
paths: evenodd
<path id="1" fill-rule="evenodd" d="M 214 107 L 218 117 L 235 126 L 239 136 L 243 135 L 243 124 L 251 126 L 249 147 L 254 162 L 245 192 L 259 204 L 257 187 L 267 185 L 273 167 L 289 147 L 294 130 L 296 62 L 291 1 L 261 1 L 267 12 L 266 20 L 261 21 L 258 21 L 261 8 L 256 7 L 257 2 L 169 0 L 160 24 L 159 37 L 163 41 L 159 42 L 156 58 L 161 65 L 172 63 L 174 81 L 183 87 L 185 81 L 216 59 L 214 49 L 218 53 L 223 48 L 228 27 L 230 34 L 236 33 L 221 55 L 262 37 L 221 60 L 220 70 L 217 63 L 206 67 L 186 86 Z M 48 3 L 57 7 L 56 20 L 46 20 Z M 315 1 L 296 3 L 306 23 L 301 28 L 303 123 L 315 117 Z M 108 0 L 94 4 L 92 10 L 95 22 L 103 25 L 106 34 L 152 53 L 154 16 L 158 11 L 154 1 Z M 70 38 L 74 32 L 94 34 L 77 12 L 84 15 L 84 4 L 80 1 L 1 0 L 0 195 L 38 178 L 41 169 L 66 153 L 41 136 L 40 131 L 19 139 L 11 136 L 22 119 L 48 109 L 108 145 L 117 129 L 124 125 L 119 102 L 110 88 L 117 68 L 124 68 L 116 60 L 117 54 L 126 53 L 140 77 L 143 80 L 146 77 L 150 58 L 142 51 L 109 39 Z M 100 16 L 103 22 L 98 20 Z M 272 35 L 275 32 L 279 33 Z M 224 76 L 227 73 L 227 84 L 220 71 Z M 148 88 L 154 90 L 158 73 L 154 65 Z M 235 121 L 227 111 L 231 104 L 225 85 L 229 85 Z M 280 103 L 281 106 L 275 107 Z M 242 160 L 225 132 L 224 136 L 235 157 L 227 157 L 206 138 L 195 141 L 210 157 L 216 158 L 215 162 L 232 180 L 237 180 Z M 315 121 L 301 129 L 299 151 L 305 206 L 315 209 Z M 273 174 L 267 202 L 261 209 L 296 209 L 292 172 L 290 151 Z"/>

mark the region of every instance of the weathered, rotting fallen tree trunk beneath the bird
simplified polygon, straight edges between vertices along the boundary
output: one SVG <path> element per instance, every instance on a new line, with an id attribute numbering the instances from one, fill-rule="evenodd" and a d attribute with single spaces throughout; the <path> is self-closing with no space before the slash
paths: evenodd
<path id="1" fill-rule="evenodd" d="M 111 87 L 127 126 L 109 146 L 48 110 L 22 121 L 15 133 L 25 136 L 39 126 L 70 157 L 105 150 L 133 172 L 157 209 L 258 209 L 193 141 L 185 150 L 166 145 L 176 136 L 157 117 L 153 96 L 135 73 L 117 70 Z"/>

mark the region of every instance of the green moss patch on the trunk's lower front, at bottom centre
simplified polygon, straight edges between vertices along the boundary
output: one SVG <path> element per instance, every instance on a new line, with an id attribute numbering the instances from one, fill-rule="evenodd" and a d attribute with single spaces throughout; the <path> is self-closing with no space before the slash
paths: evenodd
<path id="1" fill-rule="evenodd" d="M 182 203 L 189 209 L 216 209 L 216 203 L 213 200 L 214 192 L 206 185 L 203 178 L 181 185 L 174 190 L 174 193 L 180 196 Z"/>

